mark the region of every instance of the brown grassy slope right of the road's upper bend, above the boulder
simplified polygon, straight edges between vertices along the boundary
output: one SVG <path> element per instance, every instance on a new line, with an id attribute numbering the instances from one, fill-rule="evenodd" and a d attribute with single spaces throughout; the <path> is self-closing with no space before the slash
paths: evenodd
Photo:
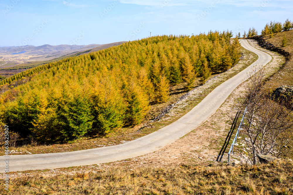
<path id="1" fill-rule="evenodd" d="M 283 35 L 287 37 L 287 46 L 282 47 Z M 275 90 L 281 85 L 293 86 L 293 31 L 274 33 L 270 35 L 253 37 L 258 43 L 270 50 L 277 51 L 286 57 L 285 65 L 274 75 L 272 75 L 266 82 L 266 87 Z"/>

